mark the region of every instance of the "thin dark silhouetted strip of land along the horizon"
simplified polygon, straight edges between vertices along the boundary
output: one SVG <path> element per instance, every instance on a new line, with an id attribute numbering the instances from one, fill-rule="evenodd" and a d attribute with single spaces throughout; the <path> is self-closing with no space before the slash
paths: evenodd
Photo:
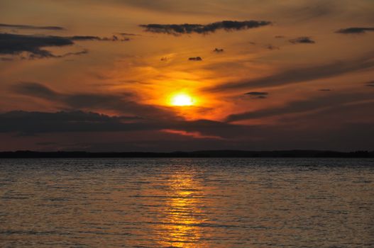
<path id="1" fill-rule="evenodd" d="M 374 151 L 334 152 L 316 150 L 238 151 L 211 150 L 196 152 L 0 152 L 0 158 L 104 158 L 104 157 L 346 157 L 374 158 Z"/>

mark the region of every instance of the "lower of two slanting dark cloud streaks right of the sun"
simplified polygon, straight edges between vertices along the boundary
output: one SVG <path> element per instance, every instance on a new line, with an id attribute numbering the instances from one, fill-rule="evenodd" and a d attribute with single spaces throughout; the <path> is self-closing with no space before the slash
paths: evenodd
<path id="1" fill-rule="evenodd" d="M 292 101 L 285 106 L 276 106 L 250 112 L 236 113 L 229 115 L 226 121 L 251 120 L 256 118 L 267 118 L 275 115 L 286 115 L 290 113 L 307 113 L 309 111 L 319 111 L 320 109 L 341 108 L 343 104 L 355 103 L 371 100 L 372 94 L 335 94 L 323 95 L 307 100 Z"/>

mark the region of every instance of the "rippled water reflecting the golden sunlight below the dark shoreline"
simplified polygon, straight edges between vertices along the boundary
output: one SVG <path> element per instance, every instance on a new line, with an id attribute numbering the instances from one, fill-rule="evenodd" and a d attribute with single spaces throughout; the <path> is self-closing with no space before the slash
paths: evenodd
<path id="1" fill-rule="evenodd" d="M 374 247 L 374 159 L 0 159 L 0 247 Z"/>

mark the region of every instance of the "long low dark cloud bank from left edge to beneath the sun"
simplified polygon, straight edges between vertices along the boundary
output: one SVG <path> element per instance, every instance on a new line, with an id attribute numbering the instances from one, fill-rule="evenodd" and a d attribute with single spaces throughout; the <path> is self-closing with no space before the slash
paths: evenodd
<path id="1" fill-rule="evenodd" d="M 183 130 L 212 137 L 238 137 L 243 125 L 233 125 L 212 120 L 145 120 L 128 116 L 109 116 L 84 111 L 60 111 L 55 113 L 11 111 L 0 113 L 0 133 L 35 135 L 38 133 L 70 132 L 129 132 L 145 130 Z"/>

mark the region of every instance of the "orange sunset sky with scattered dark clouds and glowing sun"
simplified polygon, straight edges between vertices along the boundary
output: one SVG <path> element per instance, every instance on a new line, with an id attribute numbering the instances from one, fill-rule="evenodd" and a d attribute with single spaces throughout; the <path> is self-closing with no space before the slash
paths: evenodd
<path id="1" fill-rule="evenodd" d="M 374 150 L 372 0 L 1 0 L 0 150 Z"/>

